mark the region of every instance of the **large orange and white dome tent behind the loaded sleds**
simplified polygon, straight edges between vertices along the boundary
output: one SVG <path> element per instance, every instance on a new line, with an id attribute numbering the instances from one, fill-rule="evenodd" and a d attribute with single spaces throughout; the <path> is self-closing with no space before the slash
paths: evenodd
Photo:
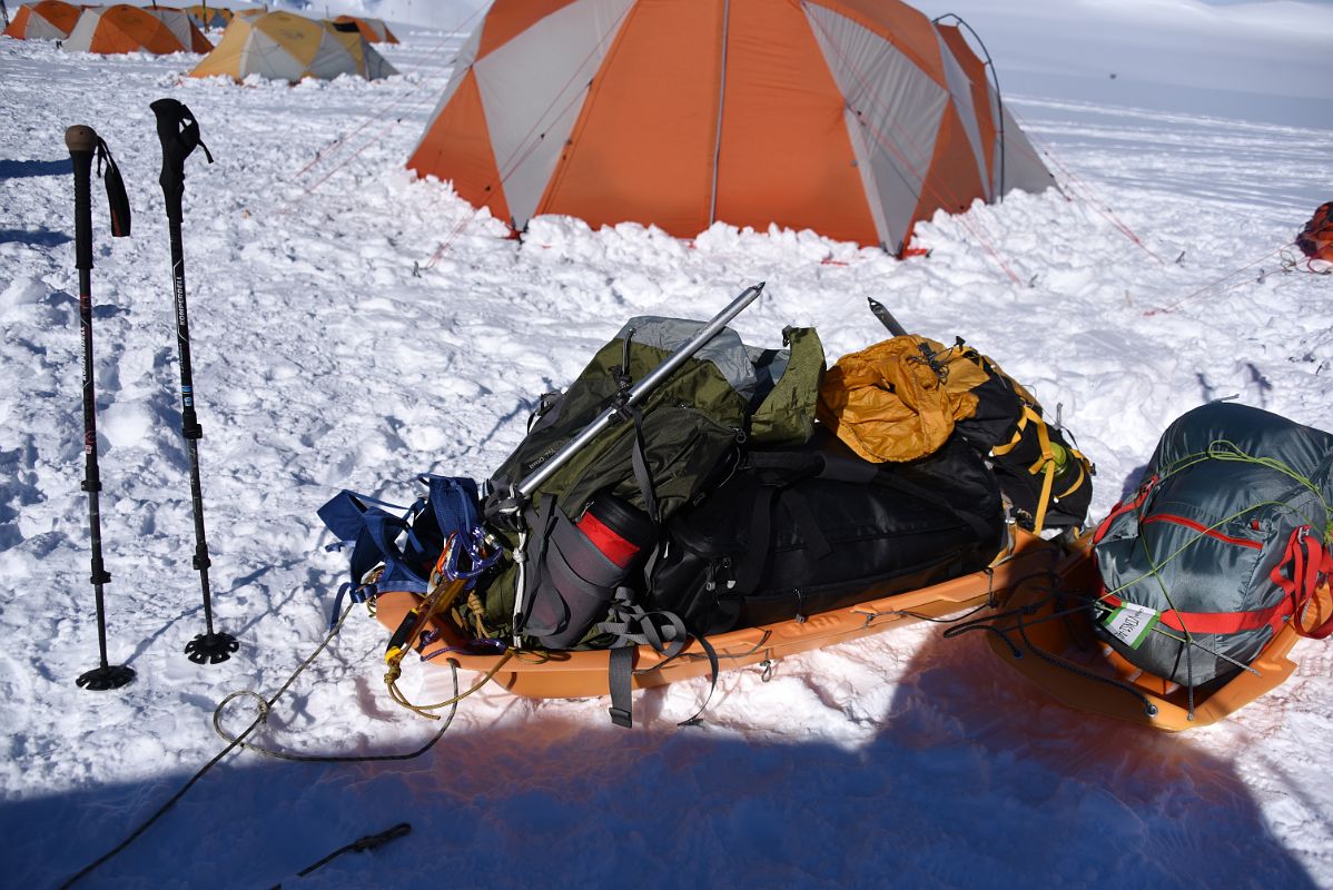
<path id="1" fill-rule="evenodd" d="M 958 29 L 897 0 L 496 0 L 408 167 L 516 229 L 776 222 L 897 253 L 936 209 L 1052 184 L 998 109 Z"/>

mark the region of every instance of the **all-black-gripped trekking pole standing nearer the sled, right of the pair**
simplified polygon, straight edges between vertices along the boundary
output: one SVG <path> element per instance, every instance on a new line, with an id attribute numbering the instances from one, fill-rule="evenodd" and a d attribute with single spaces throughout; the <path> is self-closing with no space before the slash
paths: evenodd
<path id="1" fill-rule="evenodd" d="M 185 196 L 185 159 L 196 147 L 204 149 L 208 163 L 213 156 L 199 137 L 199 121 L 189 108 L 175 99 L 159 99 L 152 105 L 157 115 L 157 139 L 163 144 L 163 173 L 159 180 L 167 201 L 167 222 L 171 229 L 172 292 L 176 298 L 176 346 L 180 352 L 180 432 L 189 454 L 189 494 L 195 508 L 195 558 L 199 582 L 204 590 L 205 632 L 185 644 L 185 654 L 196 665 L 227 661 L 240 649 L 236 637 L 213 630 L 213 598 L 208 589 L 208 538 L 204 534 L 204 496 L 199 482 L 199 440 L 204 430 L 195 413 L 195 372 L 189 362 L 189 312 L 185 304 L 185 256 L 181 248 L 180 225 Z"/>

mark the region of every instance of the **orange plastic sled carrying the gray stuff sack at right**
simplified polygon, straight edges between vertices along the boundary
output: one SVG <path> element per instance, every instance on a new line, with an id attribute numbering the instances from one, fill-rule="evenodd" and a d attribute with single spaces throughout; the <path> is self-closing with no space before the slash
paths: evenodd
<path id="1" fill-rule="evenodd" d="M 990 649 L 1069 707 L 1168 731 L 1216 723 L 1280 686 L 1296 670 L 1288 658 L 1301 638 L 1296 622 L 1312 630 L 1333 614 L 1325 582 L 1305 613 L 1250 662 L 1253 673 L 1241 670 L 1229 681 L 1196 686 L 1190 713 L 1186 687 L 1138 670 L 1097 641 L 1088 610 L 1077 608 L 1097 586 L 1097 562 L 1085 537 L 1053 576 L 1030 578 L 1000 597 L 989 625 L 1000 633 L 988 634 Z"/>

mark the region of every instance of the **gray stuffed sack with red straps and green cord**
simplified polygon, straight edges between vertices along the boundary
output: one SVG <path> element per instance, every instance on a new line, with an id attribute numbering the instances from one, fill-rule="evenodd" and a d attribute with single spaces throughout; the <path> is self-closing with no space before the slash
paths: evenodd
<path id="1" fill-rule="evenodd" d="M 1333 436 L 1212 402 L 1168 428 L 1144 478 L 1093 538 L 1098 636 L 1157 677 L 1225 682 L 1333 570 Z"/>

